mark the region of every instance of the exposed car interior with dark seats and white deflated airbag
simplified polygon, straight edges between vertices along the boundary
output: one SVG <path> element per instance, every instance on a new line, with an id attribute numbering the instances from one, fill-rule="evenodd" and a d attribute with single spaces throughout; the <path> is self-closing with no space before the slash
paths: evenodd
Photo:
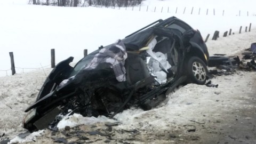
<path id="1" fill-rule="evenodd" d="M 162 77 L 164 76 L 166 81 L 168 79 L 173 78 L 174 74 L 177 72 L 177 65 L 178 65 L 178 49 L 179 45 L 178 43 L 175 43 L 176 40 L 172 37 L 165 37 L 165 36 L 154 36 L 156 39 L 156 44 L 154 46 L 153 54 L 158 54 L 157 56 L 159 57 L 160 55 L 165 57 L 165 59 L 161 59 L 162 62 L 167 63 L 167 65 L 170 65 L 170 68 L 167 67 L 168 69 L 164 70 L 159 70 L 155 66 L 152 67 L 152 63 L 150 65 L 150 62 L 148 58 L 150 57 L 149 54 L 147 54 L 147 51 L 149 50 L 149 47 L 147 48 L 142 48 L 142 52 L 146 53 L 147 58 L 142 58 L 140 57 L 137 53 L 129 53 L 128 58 L 125 61 L 125 68 L 126 68 L 126 80 L 129 85 L 135 84 L 136 82 L 140 81 L 141 79 L 144 79 L 146 77 L 149 77 L 150 75 L 153 75 L 155 77 L 158 77 L 159 75 Z M 149 42 L 147 45 L 152 41 L 153 38 L 149 39 Z M 156 56 L 156 55 L 155 55 Z M 157 57 L 156 56 L 156 57 Z M 157 62 L 153 63 L 155 65 Z M 159 63 L 159 62 L 158 62 Z M 159 63 L 159 65 L 161 65 Z M 164 66 L 165 67 L 165 66 Z M 166 68 L 166 67 L 165 67 Z M 159 74 L 154 75 L 154 71 L 157 71 L 158 69 Z M 158 71 L 157 71 L 158 72 Z M 157 79 L 157 78 L 156 78 Z M 158 84 L 161 84 L 158 83 Z"/>

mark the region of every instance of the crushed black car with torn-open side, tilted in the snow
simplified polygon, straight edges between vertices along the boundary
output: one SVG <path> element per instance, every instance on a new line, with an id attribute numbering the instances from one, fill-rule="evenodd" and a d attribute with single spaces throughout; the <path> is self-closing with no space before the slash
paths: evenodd
<path id="1" fill-rule="evenodd" d="M 26 109 L 23 125 L 35 131 L 54 127 L 60 115 L 113 118 L 131 106 L 151 109 L 182 83 L 204 84 L 208 59 L 198 30 L 175 17 L 157 20 L 74 67 L 73 57 L 60 62 Z"/>

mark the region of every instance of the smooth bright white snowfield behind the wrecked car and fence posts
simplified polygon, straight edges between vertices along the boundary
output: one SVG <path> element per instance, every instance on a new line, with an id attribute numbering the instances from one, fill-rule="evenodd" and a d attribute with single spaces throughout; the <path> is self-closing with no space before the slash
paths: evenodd
<path id="1" fill-rule="evenodd" d="M 141 11 L 138 7 L 119 9 L 100 9 L 97 7 L 54 7 L 41 5 L 26 5 L 26 0 L 1 0 L 0 1 L 0 76 L 11 75 L 9 52 L 14 53 L 17 73 L 50 67 L 50 50 L 55 49 L 55 60 L 60 62 L 70 56 L 77 62 L 83 57 L 83 50 L 92 52 L 100 45 L 108 45 L 118 38 L 133 33 L 135 30 L 148 25 L 158 19 L 176 16 L 199 29 L 205 38 L 207 34 L 213 36 L 215 30 L 220 31 L 220 36 L 230 28 L 237 34 L 240 26 L 256 27 L 253 8 L 256 2 L 246 1 L 143 1 Z M 228 4 L 227 4 L 228 3 Z M 158 11 L 146 12 L 147 6 L 158 7 Z M 165 7 L 161 13 L 160 7 Z M 166 7 L 170 6 L 170 12 Z M 176 7 L 179 11 L 173 12 Z M 197 6 L 197 7 L 194 7 Z M 181 8 L 180 8 L 181 7 Z M 187 12 L 183 14 L 184 7 Z M 194 14 L 190 14 L 194 7 Z M 201 14 L 198 15 L 198 7 Z M 216 15 L 213 15 L 215 7 Z M 217 10 L 217 7 L 221 10 Z M 209 15 L 206 10 L 209 9 Z M 226 13 L 222 16 L 222 9 Z M 250 15 L 237 12 L 250 12 Z M 221 13 L 221 14 L 220 14 Z M 230 13 L 230 14 L 228 14 Z M 6 71 L 7 70 L 7 71 Z M 7 73 L 6 73 L 7 72 Z"/>

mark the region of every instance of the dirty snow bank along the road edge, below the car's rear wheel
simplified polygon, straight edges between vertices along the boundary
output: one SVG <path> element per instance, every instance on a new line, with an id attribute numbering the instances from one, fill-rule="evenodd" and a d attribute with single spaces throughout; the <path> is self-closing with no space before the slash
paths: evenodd
<path id="1" fill-rule="evenodd" d="M 169 130 L 171 125 L 224 121 L 225 116 L 235 111 L 255 109 L 256 106 L 248 102 L 255 98 L 254 82 L 255 72 L 239 71 L 234 75 L 218 76 L 212 79 L 218 88 L 188 84 L 169 94 L 169 101 L 160 108 L 148 111 L 129 109 L 115 118 L 122 119 L 119 129 L 154 132 Z M 135 114 L 130 115 L 132 113 Z"/>

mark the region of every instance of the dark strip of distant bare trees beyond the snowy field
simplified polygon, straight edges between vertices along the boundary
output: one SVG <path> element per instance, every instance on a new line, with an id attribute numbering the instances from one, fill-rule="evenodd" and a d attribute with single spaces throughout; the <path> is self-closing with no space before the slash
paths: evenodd
<path id="1" fill-rule="evenodd" d="M 29 4 L 53 5 L 53 6 L 135 6 L 140 5 L 143 0 L 30 0 Z"/>

